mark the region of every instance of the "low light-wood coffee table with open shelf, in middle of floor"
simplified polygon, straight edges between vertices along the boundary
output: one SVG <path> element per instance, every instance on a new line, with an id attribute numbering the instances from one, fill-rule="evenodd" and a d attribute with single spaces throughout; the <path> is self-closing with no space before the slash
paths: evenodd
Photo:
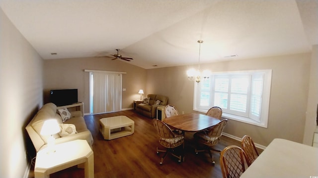
<path id="1" fill-rule="evenodd" d="M 114 116 L 99 120 L 99 132 L 110 140 L 134 134 L 135 122 L 127 116 Z"/>

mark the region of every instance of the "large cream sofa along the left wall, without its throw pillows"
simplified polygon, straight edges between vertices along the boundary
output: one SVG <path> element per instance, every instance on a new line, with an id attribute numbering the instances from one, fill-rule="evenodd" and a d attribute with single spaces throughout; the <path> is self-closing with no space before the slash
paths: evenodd
<path id="1" fill-rule="evenodd" d="M 65 106 L 65 108 L 67 108 L 68 106 Z M 37 114 L 33 117 L 30 123 L 26 126 L 25 129 L 32 140 L 36 152 L 47 146 L 48 136 L 41 135 L 40 132 L 44 121 L 48 119 L 55 119 L 59 124 L 74 124 L 76 127 L 76 134 L 70 134 L 63 137 L 61 137 L 60 134 L 54 134 L 56 144 L 76 139 L 84 139 L 88 142 L 90 147 L 92 147 L 93 137 L 86 127 L 85 120 L 83 118 L 83 111 L 70 111 L 71 118 L 63 123 L 61 115 L 57 112 L 57 109 L 60 108 L 63 108 L 63 106 L 57 107 L 53 103 L 47 103 L 43 105 L 43 107 L 37 112 Z"/>

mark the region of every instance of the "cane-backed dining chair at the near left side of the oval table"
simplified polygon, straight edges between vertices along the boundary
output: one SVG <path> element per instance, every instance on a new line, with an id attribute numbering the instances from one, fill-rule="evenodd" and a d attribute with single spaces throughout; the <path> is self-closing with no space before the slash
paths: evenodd
<path id="1" fill-rule="evenodd" d="M 157 147 L 157 154 L 159 154 L 159 152 L 164 152 L 164 155 L 161 157 L 160 164 L 162 164 L 163 159 L 166 157 L 168 152 L 170 152 L 172 156 L 178 158 L 178 162 L 181 162 L 181 160 L 184 161 L 184 135 L 172 132 L 169 126 L 159 119 L 153 119 L 153 122 L 159 136 L 159 143 L 166 148 L 165 150 L 160 150 Z M 182 149 L 180 150 L 180 155 L 176 155 L 174 148 L 179 146 L 182 146 Z"/>

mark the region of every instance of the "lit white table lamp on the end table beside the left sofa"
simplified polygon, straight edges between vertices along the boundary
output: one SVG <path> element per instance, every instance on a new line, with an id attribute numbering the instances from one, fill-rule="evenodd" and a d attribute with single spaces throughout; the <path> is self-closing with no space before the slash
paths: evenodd
<path id="1" fill-rule="evenodd" d="M 44 121 L 40 134 L 41 135 L 50 135 L 48 137 L 48 154 L 55 152 L 55 138 L 53 134 L 57 134 L 61 131 L 58 122 L 55 119 L 49 119 Z"/>

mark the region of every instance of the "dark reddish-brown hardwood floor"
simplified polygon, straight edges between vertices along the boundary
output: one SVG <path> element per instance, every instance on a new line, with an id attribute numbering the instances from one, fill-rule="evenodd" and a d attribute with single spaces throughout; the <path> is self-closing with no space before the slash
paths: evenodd
<path id="1" fill-rule="evenodd" d="M 99 133 L 99 119 L 125 115 L 135 121 L 135 133 L 129 136 L 104 140 Z M 194 153 L 193 134 L 186 133 L 185 162 L 167 155 L 160 165 L 156 153 L 159 137 L 154 130 L 152 119 L 141 116 L 133 110 L 84 117 L 87 128 L 93 135 L 95 178 L 222 178 L 220 154 L 213 153 L 216 164 L 212 166 L 208 153 Z M 222 136 L 216 148 L 222 150 L 228 145 L 240 142 Z M 259 150 L 260 152 L 262 150 Z M 72 167 L 50 175 L 51 178 L 82 178 L 83 169 Z M 31 168 L 29 178 L 34 178 Z"/>

